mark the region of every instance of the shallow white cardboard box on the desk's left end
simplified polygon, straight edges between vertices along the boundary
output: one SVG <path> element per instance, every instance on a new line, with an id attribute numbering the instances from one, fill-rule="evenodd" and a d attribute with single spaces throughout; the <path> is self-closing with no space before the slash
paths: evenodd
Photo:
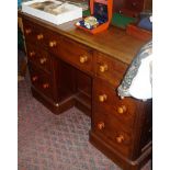
<path id="1" fill-rule="evenodd" d="M 22 11 L 57 25 L 82 18 L 82 8 L 55 0 L 23 2 Z"/>

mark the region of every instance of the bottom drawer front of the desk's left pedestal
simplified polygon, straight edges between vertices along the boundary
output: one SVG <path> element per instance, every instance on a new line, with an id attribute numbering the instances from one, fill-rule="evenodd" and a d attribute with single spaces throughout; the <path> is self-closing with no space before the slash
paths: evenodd
<path id="1" fill-rule="evenodd" d="M 29 63 L 32 84 L 48 98 L 53 98 L 53 83 L 50 75 L 43 70 L 37 70 L 35 66 Z"/>

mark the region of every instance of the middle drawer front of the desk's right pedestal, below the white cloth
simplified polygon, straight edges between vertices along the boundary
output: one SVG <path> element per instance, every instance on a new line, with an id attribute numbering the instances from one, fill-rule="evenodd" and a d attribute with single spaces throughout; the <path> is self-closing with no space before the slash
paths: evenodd
<path id="1" fill-rule="evenodd" d="M 94 112 L 109 113 L 113 118 L 132 129 L 135 121 L 136 105 L 133 99 L 120 99 L 112 84 L 95 79 L 93 83 Z"/>

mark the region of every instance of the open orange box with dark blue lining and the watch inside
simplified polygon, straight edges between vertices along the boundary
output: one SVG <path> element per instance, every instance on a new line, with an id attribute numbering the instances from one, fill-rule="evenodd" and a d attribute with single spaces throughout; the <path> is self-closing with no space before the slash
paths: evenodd
<path id="1" fill-rule="evenodd" d="M 112 20 L 113 0 L 90 0 L 91 15 L 76 23 L 76 26 L 97 34 L 106 30 Z"/>

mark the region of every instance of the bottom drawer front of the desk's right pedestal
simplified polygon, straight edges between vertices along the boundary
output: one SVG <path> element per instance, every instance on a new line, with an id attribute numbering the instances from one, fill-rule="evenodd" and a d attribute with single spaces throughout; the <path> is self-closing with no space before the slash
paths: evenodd
<path id="1" fill-rule="evenodd" d="M 94 112 L 93 114 L 93 129 L 94 133 L 115 150 L 129 156 L 132 147 L 132 134 L 123 128 L 122 124 L 118 124 L 111 114 L 103 112 Z"/>

